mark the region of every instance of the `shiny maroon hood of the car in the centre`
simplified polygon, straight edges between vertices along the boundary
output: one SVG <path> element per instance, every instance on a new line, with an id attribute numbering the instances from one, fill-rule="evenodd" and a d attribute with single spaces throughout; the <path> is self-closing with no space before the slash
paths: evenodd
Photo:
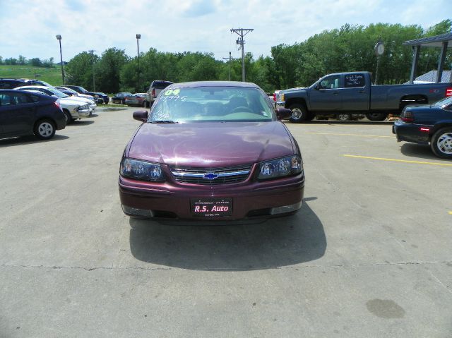
<path id="1" fill-rule="evenodd" d="M 168 165 L 231 167 L 295 153 L 283 123 L 143 123 L 128 155 Z"/>

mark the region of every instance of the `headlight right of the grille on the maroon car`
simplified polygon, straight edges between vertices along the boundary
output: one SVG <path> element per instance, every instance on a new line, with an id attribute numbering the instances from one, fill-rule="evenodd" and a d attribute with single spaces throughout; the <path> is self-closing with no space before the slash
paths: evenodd
<path id="1" fill-rule="evenodd" d="M 292 176 L 303 171 L 303 162 L 299 156 L 270 159 L 259 165 L 258 179 L 275 179 L 277 177 Z"/>

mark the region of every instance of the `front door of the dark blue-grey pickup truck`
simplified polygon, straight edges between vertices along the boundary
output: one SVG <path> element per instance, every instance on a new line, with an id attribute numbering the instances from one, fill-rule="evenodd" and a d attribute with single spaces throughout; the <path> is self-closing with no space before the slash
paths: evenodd
<path id="1" fill-rule="evenodd" d="M 326 76 L 309 90 L 312 111 L 338 111 L 342 109 L 340 75 Z"/>

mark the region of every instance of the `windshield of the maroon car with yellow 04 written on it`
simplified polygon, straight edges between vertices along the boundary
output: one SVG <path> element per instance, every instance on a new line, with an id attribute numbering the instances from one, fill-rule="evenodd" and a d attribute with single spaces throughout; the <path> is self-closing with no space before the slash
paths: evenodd
<path id="1" fill-rule="evenodd" d="M 249 87 L 172 87 L 160 93 L 148 122 L 273 121 L 267 100 Z"/>

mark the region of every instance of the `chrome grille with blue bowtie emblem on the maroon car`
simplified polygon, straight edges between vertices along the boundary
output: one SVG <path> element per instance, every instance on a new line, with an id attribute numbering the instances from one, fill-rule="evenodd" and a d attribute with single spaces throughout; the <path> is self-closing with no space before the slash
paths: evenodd
<path id="1" fill-rule="evenodd" d="M 178 182 L 213 186 L 245 181 L 251 172 L 251 165 L 225 168 L 170 167 L 169 169 Z"/>

